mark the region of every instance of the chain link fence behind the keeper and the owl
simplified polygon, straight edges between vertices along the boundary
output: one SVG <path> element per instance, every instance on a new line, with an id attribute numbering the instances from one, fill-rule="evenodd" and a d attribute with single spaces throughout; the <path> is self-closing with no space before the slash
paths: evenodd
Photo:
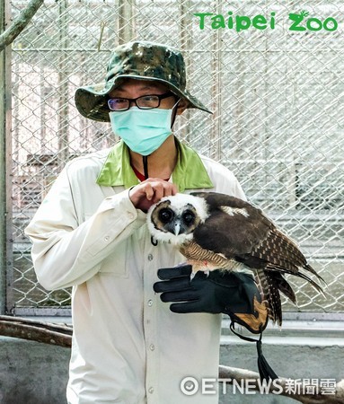
<path id="1" fill-rule="evenodd" d="M 27 2 L 11 4 L 14 17 Z M 341 22 L 344 15 L 339 1 L 304 7 L 320 21 Z M 103 80 L 112 48 L 141 39 L 181 48 L 189 88 L 214 111 L 211 117 L 186 111 L 177 136 L 234 171 L 250 201 L 299 243 L 326 280 L 325 298 L 289 279 L 298 307 L 285 303 L 285 310 L 344 312 L 343 28 L 290 31 L 288 14 L 301 11 L 298 2 L 269 0 L 47 0 L 41 6 L 12 51 L 8 311 L 61 312 L 70 304 L 69 290 L 49 293 L 38 284 L 23 229 L 66 161 L 117 140 L 110 125 L 78 114 L 74 93 Z M 200 29 L 194 13 L 221 14 L 225 28 L 215 29 L 220 17 L 207 16 Z M 236 15 L 258 14 L 267 19 L 265 30 L 235 30 Z M 228 28 L 231 15 L 234 28 Z"/>

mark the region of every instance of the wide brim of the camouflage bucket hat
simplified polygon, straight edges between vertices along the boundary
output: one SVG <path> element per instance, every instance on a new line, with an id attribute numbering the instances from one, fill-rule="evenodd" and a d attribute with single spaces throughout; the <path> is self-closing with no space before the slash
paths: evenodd
<path id="1" fill-rule="evenodd" d="M 175 87 L 172 83 L 168 83 L 165 80 L 157 79 L 155 77 L 142 77 L 139 75 L 118 75 L 105 85 L 94 84 L 79 87 L 75 92 L 75 106 L 77 110 L 88 119 L 93 119 L 101 122 L 110 122 L 109 107 L 108 107 L 108 94 L 123 81 L 123 79 L 132 78 L 137 80 L 156 81 L 165 84 L 171 89 L 173 93 L 189 101 L 187 108 L 197 108 L 198 110 L 204 110 L 208 113 L 212 113 L 208 110 L 201 101 L 190 94 L 187 90 L 181 91 Z"/>

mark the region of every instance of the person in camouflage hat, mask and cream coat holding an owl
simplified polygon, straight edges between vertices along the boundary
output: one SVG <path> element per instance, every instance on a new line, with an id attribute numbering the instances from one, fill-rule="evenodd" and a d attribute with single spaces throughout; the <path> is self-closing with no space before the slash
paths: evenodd
<path id="1" fill-rule="evenodd" d="M 219 271 L 190 281 L 146 226 L 177 192 L 245 198 L 231 171 L 172 134 L 184 110 L 210 111 L 187 90 L 181 52 L 140 40 L 115 48 L 105 83 L 78 88 L 75 105 L 121 139 L 68 162 L 26 229 L 40 284 L 73 286 L 68 403 L 216 403 L 182 382 L 217 377 L 221 313 L 254 312 L 257 287 Z"/>

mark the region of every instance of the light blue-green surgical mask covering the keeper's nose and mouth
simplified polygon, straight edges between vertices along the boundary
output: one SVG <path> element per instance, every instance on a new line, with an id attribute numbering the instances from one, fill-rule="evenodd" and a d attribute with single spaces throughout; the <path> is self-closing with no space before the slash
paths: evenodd
<path id="1" fill-rule="evenodd" d="M 174 108 L 174 107 L 173 107 Z M 172 110 L 154 108 L 111 111 L 111 127 L 129 149 L 141 155 L 152 154 L 171 135 Z"/>

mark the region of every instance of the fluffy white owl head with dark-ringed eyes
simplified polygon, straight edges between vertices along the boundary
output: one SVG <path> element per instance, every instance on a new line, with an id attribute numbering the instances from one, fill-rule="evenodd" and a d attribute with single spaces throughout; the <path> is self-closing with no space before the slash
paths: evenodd
<path id="1" fill-rule="evenodd" d="M 154 239 L 181 245 L 191 240 L 198 224 L 207 219 L 207 203 L 204 198 L 189 194 L 176 194 L 162 198 L 150 207 L 147 214 L 149 232 Z"/>

